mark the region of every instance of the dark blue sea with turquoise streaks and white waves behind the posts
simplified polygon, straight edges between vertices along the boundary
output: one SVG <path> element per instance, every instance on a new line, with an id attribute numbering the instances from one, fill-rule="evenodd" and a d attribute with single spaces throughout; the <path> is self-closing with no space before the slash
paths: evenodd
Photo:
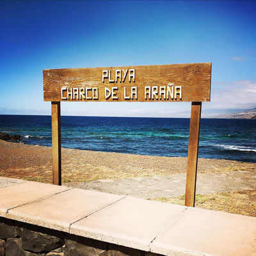
<path id="1" fill-rule="evenodd" d="M 189 118 L 61 116 L 65 148 L 188 156 Z M 0 131 L 51 147 L 51 116 L 0 115 Z M 256 120 L 202 119 L 199 157 L 256 163 Z"/>

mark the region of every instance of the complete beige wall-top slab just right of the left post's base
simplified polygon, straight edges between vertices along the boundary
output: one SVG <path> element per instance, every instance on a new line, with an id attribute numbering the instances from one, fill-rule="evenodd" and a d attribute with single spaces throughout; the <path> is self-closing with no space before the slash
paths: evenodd
<path id="1" fill-rule="evenodd" d="M 124 198 L 97 191 L 70 189 L 8 211 L 12 220 L 69 232 L 71 223 Z"/>

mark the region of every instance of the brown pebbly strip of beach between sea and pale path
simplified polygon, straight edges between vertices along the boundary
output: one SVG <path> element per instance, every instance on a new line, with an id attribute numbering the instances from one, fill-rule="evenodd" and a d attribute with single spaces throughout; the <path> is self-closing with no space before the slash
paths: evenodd
<path id="1" fill-rule="evenodd" d="M 187 157 L 61 148 L 63 182 L 186 173 Z M 198 173 L 256 170 L 256 163 L 198 158 Z M 51 183 L 52 148 L 0 140 L 0 176 Z"/>

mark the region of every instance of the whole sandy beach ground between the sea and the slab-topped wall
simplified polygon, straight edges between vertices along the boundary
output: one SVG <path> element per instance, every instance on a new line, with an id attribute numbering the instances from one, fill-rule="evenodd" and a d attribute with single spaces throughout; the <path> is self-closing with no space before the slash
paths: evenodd
<path id="1" fill-rule="evenodd" d="M 61 148 L 64 186 L 184 204 L 186 157 Z M 52 182 L 51 147 L 0 140 L 0 175 Z M 198 159 L 198 207 L 255 216 L 256 164 Z M 228 207 L 230 205 L 230 207 Z"/>

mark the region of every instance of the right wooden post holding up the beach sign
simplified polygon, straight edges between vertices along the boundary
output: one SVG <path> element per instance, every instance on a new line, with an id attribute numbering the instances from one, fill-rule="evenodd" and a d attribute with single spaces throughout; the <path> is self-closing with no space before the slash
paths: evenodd
<path id="1" fill-rule="evenodd" d="M 198 142 L 202 102 L 192 102 L 188 144 L 188 168 L 185 205 L 195 207 Z"/>

